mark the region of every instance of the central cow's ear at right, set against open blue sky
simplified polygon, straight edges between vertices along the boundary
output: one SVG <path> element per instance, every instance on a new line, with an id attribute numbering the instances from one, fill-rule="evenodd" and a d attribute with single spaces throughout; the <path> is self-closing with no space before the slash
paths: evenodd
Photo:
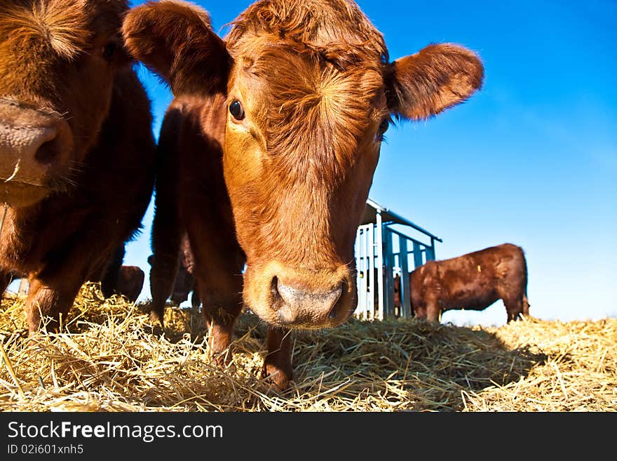
<path id="1" fill-rule="evenodd" d="M 453 44 L 429 45 L 392 63 L 388 104 L 403 119 L 426 119 L 463 102 L 480 86 L 484 67 L 475 55 Z"/>

